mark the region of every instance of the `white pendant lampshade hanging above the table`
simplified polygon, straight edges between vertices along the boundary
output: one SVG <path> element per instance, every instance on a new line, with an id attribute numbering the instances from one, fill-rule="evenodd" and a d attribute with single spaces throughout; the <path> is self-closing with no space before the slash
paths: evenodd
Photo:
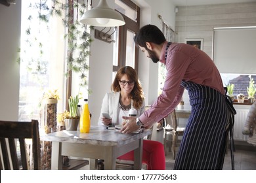
<path id="1" fill-rule="evenodd" d="M 116 10 L 108 7 L 106 0 L 100 0 L 98 6 L 85 12 L 80 22 L 97 27 L 115 27 L 125 24 L 123 16 Z"/>

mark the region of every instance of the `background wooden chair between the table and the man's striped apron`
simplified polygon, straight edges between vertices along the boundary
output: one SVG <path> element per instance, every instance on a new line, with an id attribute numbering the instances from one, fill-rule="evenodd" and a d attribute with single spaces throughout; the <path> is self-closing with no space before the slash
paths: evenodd
<path id="1" fill-rule="evenodd" d="M 165 118 L 163 146 L 165 148 L 165 155 L 167 150 L 173 152 L 173 159 L 176 158 L 176 147 L 179 136 L 183 136 L 185 127 L 179 127 L 177 123 L 177 116 L 175 110 L 168 114 Z M 169 142 L 169 144 L 168 144 Z"/>

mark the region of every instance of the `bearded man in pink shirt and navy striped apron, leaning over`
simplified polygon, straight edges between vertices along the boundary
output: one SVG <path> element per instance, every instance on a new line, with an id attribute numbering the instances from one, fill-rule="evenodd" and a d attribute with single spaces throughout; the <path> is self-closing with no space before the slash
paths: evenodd
<path id="1" fill-rule="evenodd" d="M 188 90 L 191 115 L 175 161 L 175 169 L 222 169 L 230 108 L 217 67 L 205 52 L 189 44 L 167 42 L 155 25 L 142 27 L 134 41 L 154 63 L 165 64 L 167 75 L 158 99 L 122 133 L 150 127 L 172 112 Z"/>

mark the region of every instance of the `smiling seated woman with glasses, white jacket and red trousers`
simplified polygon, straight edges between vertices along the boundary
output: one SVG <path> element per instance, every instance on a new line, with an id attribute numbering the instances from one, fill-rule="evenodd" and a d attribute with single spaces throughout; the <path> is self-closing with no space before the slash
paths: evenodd
<path id="1" fill-rule="evenodd" d="M 102 100 L 99 125 L 117 125 L 123 123 L 122 116 L 128 116 L 133 101 L 133 107 L 140 116 L 145 110 L 142 87 L 137 72 L 132 67 L 121 67 L 112 83 L 112 92 L 106 93 Z M 110 119 L 104 118 L 102 113 L 108 113 Z M 133 151 L 120 156 L 118 159 L 134 160 Z M 149 170 L 165 169 L 165 153 L 163 144 L 158 141 L 143 140 L 142 162 Z"/>

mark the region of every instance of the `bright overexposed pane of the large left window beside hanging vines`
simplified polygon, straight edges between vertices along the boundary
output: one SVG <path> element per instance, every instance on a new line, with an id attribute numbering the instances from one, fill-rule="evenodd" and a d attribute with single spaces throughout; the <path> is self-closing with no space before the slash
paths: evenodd
<path id="1" fill-rule="evenodd" d="M 53 19 L 49 24 L 54 26 L 50 27 L 39 22 L 35 3 L 22 1 L 19 120 L 39 120 L 41 99 L 47 88 L 64 91 L 65 42 L 60 36 L 64 29 L 59 29 L 62 22 Z M 47 5 L 51 7 L 51 1 Z M 64 93 L 59 95 L 64 98 Z M 58 102 L 58 108 L 63 109 L 63 100 Z"/>

